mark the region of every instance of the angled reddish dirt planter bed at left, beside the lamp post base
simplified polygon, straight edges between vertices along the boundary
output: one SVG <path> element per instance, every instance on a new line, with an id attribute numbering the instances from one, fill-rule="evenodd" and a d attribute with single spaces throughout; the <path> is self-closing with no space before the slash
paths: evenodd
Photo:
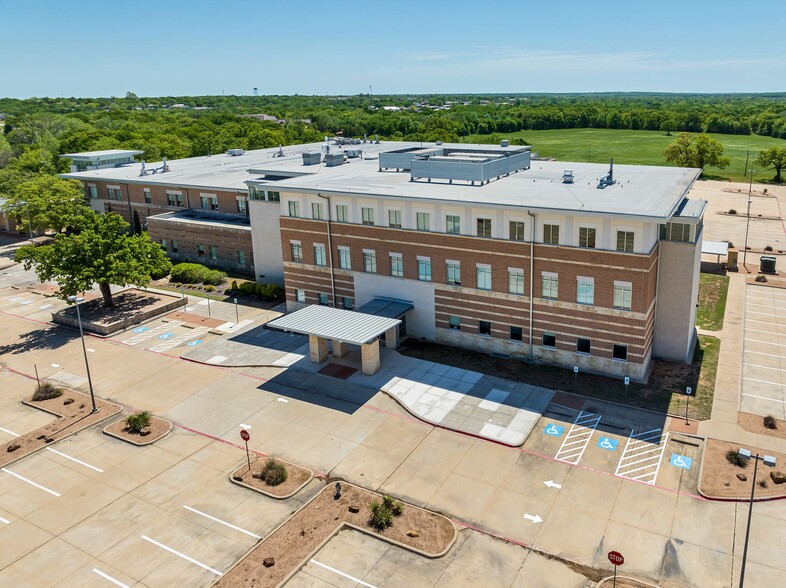
<path id="1" fill-rule="evenodd" d="M 63 394 L 49 400 L 23 400 L 22 404 L 55 415 L 57 420 L 20 435 L 16 439 L 0 445 L 0 466 L 6 466 L 26 455 L 30 455 L 49 445 L 78 433 L 87 427 L 100 423 L 120 413 L 119 404 L 96 398 L 98 412 L 91 414 L 90 396 L 68 388 L 61 388 Z M 9 451 L 13 446 L 18 448 Z"/>

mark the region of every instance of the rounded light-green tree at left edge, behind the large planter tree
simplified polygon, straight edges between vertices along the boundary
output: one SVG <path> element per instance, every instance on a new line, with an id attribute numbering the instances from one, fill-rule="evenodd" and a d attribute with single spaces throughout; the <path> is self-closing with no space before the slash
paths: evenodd
<path id="1" fill-rule="evenodd" d="M 17 217 L 25 233 L 59 233 L 90 209 L 79 182 L 41 175 L 17 184 L 3 210 Z"/>

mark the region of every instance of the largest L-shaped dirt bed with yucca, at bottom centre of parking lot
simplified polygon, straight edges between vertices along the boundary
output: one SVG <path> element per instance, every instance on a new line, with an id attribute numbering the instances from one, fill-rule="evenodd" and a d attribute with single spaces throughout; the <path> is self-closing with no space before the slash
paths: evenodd
<path id="1" fill-rule="evenodd" d="M 335 499 L 334 486 L 326 486 L 213 585 L 225 588 L 278 586 L 294 576 L 331 537 L 347 527 L 431 558 L 445 555 L 456 541 L 456 528 L 448 518 L 409 504 L 404 504 L 403 512 L 394 518 L 391 527 L 377 532 L 368 524 L 369 503 L 381 501 L 382 496 L 346 482 L 341 482 L 341 488 L 341 498 Z M 358 507 L 358 512 L 350 512 L 350 506 Z M 409 536 L 409 531 L 415 531 L 415 536 Z M 266 566 L 263 562 L 267 558 L 273 558 L 275 563 Z"/>

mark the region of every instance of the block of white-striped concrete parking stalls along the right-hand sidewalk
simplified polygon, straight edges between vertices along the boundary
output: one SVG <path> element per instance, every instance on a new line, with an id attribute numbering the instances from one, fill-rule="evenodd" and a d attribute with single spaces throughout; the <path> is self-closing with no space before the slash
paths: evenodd
<path id="1" fill-rule="evenodd" d="M 786 290 L 748 285 L 740 407 L 786 416 Z"/>

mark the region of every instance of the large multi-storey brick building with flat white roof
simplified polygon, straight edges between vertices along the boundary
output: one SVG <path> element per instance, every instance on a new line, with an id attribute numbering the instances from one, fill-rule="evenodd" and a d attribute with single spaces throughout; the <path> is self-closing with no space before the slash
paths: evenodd
<path id="1" fill-rule="evenodd" d="M 690 361 L 699 170 L 530 161 L 507 146 L 326 150 L 69 177 L 119 190 L 99 200 L 138 210 L 173 257 L 239 269 L 233 253 L 253 252 L 243 261 L 283 278 L 290 310 L 403 301 L 402 334 L 634 379 L 654 357 Z"/>

